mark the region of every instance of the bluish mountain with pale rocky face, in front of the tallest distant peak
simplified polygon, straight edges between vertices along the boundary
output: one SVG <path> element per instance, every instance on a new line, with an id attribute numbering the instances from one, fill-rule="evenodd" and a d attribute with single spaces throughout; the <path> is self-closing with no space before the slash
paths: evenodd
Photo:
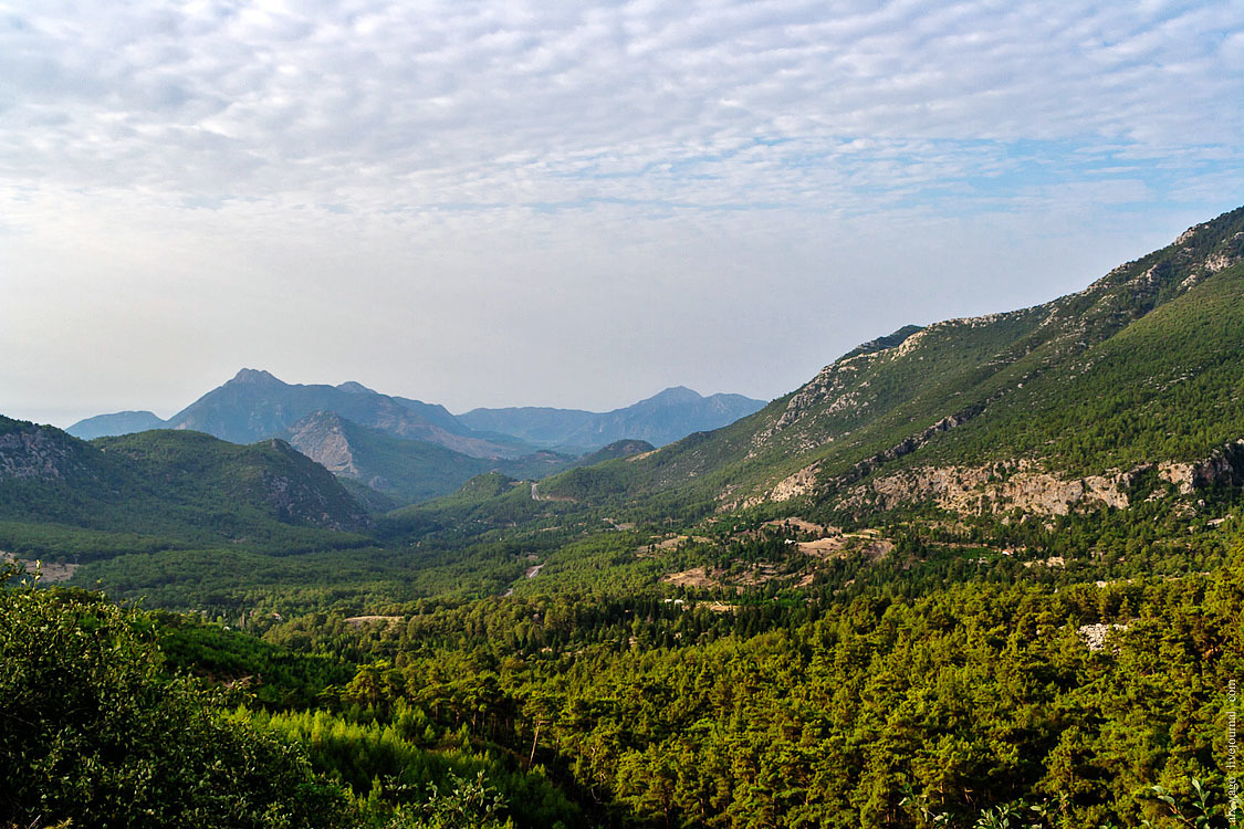
<path id="1" fill-rule="evenodd" d="M 328 471 L 415 503 L 448 495 L 469 479 L 499 470 L 539 479 L 566 467 L 570 459 L 537 452 L 520 459 L 480 459 L 420 440 L 403 440 L 351 423 L 331 411 L 316 411 L 290 426 L 290 444 Z"/>

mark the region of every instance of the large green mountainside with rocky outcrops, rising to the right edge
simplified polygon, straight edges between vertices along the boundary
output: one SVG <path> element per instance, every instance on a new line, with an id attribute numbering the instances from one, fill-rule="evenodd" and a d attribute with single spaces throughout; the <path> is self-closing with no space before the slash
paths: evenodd
<path id="1" fill-rule="evenodd" d="M 921 464 L 1018 470 L 1023 460 L 1067 477 L 1204 459 L 1244 435 L 1232 390 L 1244 382 L 1234 346 L 1242 257 L 1244 209 L 1084 291 L 896 332 L 725 429 L 556 476 L 541 491 L 669 502 L 673 490 L 699 508 L 794 497 L 862 508 L 868 498 L 852 487 Z"/>

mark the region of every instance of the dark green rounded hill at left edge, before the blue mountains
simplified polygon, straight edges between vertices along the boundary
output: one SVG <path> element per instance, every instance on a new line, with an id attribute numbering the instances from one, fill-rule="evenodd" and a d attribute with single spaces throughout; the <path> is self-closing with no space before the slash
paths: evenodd
<path id="1" fill-rule="evenodd" d="M 284 441 L 159 430 L 88 444 L 0 418 L 0 546 L 30 541 L 39 526 L 50 547 L 73 537 L 80 552 L 108 541 L 91 533 L 292 548 L 369 523 L 332 475 Z"/>

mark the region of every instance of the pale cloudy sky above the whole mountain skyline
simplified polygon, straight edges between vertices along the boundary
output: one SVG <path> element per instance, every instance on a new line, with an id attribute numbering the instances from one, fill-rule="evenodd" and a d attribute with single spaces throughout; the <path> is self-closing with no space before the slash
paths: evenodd
<path id="1" fill-rule="evenodd" d="M 0 0 L 0 413 L 770 399 L 1244 204 L 1244 0 Z"/>

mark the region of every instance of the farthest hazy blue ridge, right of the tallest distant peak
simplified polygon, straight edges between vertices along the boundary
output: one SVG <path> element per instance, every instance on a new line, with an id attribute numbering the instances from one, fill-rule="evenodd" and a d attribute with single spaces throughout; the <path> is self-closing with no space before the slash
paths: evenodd
<path id="1" fill-rule="evenodd" d="M 514 435 L 537 446 L 600 449 L 618 440 L 646 440 L 664 446 L 695 431 L 719 429 L 764 406 L 741 394 L 702 396 L 674 387 L 613 411 L 540 406 L 473 409 L 458 420 L 481 431 Z"/>

